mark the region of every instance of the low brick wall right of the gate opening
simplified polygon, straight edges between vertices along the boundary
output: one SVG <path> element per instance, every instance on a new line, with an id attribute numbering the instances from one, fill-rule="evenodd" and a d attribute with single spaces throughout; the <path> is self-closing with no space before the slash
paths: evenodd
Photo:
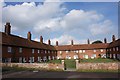
<path id="1" fill-rule="evenodd" d="M 77 69 L 84 70 L 118 70 L 120 63 L 77 63 Z"/>

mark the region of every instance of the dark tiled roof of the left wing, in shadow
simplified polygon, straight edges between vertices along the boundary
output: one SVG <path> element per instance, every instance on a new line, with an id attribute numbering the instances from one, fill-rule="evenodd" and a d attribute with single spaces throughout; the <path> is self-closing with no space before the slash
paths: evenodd
<path id="1" fill-rule="evenodd" d="M 2 33 L 2 45 L 12 45 L 12 46 L 20 46 L 20 47 L 55 50 L 54 46 L 47 45 L 45 43 L 28 40 L 26 38 L 22 38 L 16 35 L 7 35 L 3 32 L 0 32 L 0 33 Z"/>

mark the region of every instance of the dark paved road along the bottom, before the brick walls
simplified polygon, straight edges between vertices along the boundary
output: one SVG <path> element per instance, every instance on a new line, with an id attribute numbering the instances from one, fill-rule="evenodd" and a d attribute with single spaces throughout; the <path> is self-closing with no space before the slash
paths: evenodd
<path id="1" fill-rule="evenodd" d="M 118 73 L 21 71 L 4 74 L 3 78 L 118 78 Z"/>

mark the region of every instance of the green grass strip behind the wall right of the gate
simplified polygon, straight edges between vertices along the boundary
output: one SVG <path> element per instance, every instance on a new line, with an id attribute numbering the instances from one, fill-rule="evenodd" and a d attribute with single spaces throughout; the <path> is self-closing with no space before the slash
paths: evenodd
<path id="1" fill-rule="evenodd" d="M 114 60 L 114 59 L 81 59 L 80 60 L 81 63 L 108 63 L 108 62 L 119 62 L 118 60 Z"/>

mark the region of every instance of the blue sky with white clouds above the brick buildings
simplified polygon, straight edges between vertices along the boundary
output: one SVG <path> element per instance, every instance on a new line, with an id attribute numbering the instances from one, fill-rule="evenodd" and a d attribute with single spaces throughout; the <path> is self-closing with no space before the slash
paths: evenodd
<path id="1" fill-rule="evenodd" d="M 60 45 L 86 44 L 87 39 L 111 42 L 112 35 L 118 36 L 117 2 L 5 2 L 2 8 L 1 31 L 6 22 L 11 23 L 12 34 L 32 40 L 51 40 Z"/>

